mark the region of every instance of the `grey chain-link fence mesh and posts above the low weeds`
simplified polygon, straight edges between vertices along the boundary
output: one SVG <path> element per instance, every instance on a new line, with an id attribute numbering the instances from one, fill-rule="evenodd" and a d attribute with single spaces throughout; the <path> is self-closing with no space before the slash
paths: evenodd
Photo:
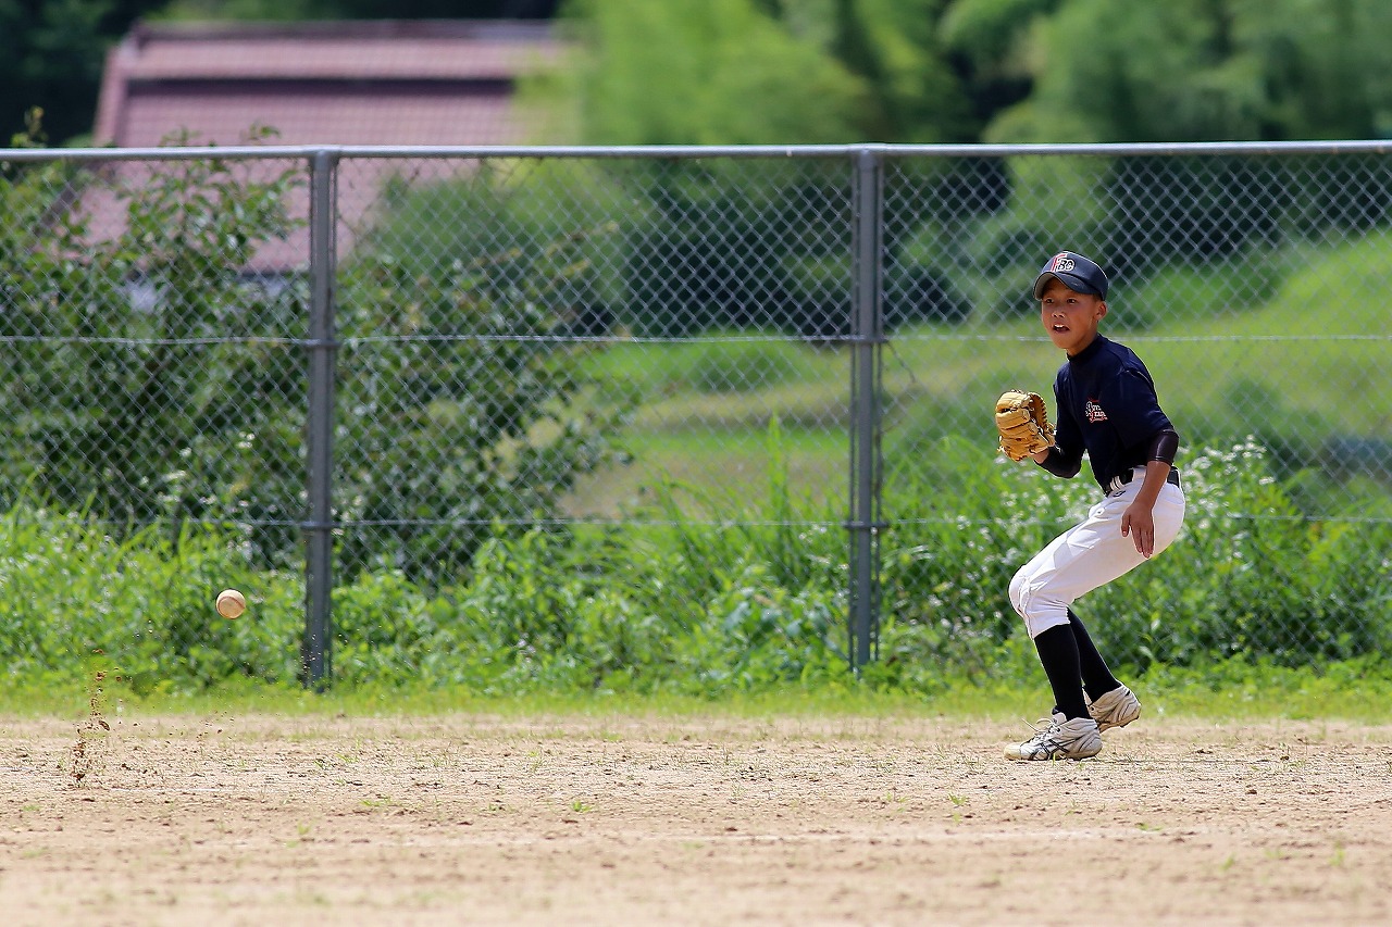
<path id="1" fill-rule="evenodd" d="M 887 618 L 999 639 L 984 590 L 1096 494 L 994 454 L 999 391 L 1051 395 L 1029 290 L 1063 248 L 1108 270 L 1104 334 L 1182 434 L 1193 555 L 1292 583 L 1308 564 L 1244 546 L 1263 525 L 1389 521 L 1381 145 L 0 163 L 0 498 L 235 526 L 305 571 L 312 676 L 335 580 L 445 586 L 529 526 L 844 532 L 855 665 Z M 1153 593 L 1128 647 L 1183 590 Z"/>

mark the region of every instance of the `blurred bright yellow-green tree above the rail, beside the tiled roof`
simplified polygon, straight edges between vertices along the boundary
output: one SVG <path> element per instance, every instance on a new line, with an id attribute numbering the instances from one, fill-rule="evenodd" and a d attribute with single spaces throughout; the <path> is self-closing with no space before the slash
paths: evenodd
<path id="1" fill-rule="evenodd" d="M 947 0 L 571 0 L 564 84 L 597 143 L 965 142 Z"/>

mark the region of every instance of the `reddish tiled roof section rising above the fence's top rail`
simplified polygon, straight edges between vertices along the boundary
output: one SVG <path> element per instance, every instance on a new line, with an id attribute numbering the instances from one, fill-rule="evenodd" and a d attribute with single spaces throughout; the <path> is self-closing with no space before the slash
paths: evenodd
<path id="1" fill-rule="evenodd" d="M 107 56 L 95 135 L 231 145 L 260 124 L 285 145 L 535 141 L 512 82 L 561 47 L 544 22 L 142 24 Z"/>

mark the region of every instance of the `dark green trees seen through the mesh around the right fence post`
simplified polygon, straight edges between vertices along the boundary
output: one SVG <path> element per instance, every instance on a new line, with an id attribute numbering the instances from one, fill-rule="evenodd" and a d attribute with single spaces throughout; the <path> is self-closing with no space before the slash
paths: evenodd
<path id="1" fill-rule="evenodd" d="M 664 337 L 729 326 L 849 337 L 855 168 L 849 159 L 682 161 L 628 177 L 653 210 L 633 217 L 625 320 Z M 885 171 L 885 326 L 965 320 L 970 302 L 945 228 L 1002 206 L 1001 161 L 905 159 Z"/>

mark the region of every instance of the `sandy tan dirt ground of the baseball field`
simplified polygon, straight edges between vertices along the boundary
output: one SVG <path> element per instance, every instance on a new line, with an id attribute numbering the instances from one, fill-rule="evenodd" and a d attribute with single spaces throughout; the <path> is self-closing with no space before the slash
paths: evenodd
<path id="1" fill-rule="evenodd" d="M 7 924 L 1381 924 L 1392 728 L 0 721 Z"/>

